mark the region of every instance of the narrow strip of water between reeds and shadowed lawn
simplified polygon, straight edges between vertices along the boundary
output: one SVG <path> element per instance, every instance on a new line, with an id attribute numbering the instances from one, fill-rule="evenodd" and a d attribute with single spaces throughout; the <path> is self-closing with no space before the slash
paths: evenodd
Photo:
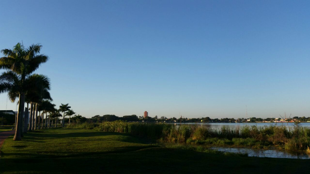
<path id="1" fill-rule="evenodd" d="M 310 159 L 309 155 L 288 153 L 278 150 L 263 150 L 250 148 L 229 148 L 229 147 L 210 147 L 210 149 L 221 152 L 248 154 L 249 157 L 267 157 L 267 158 L 289 158 L 289 159 Z"/>

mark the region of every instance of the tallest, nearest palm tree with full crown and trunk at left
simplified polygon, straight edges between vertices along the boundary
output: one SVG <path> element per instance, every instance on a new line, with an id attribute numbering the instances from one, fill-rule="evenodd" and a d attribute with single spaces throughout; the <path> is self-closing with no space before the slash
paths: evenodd
<path id="1" fill-rule="evenodd" d="M 40 64 L 45 63 L 48 59 L 47 56 L 39 54 L 41 47 L 42 45 L 40 44 L 32 44 L 26 49 L 21 43 L 17 43 L 13 50 L 1 50 L 1 53 L 4 55 L 4 57 L 0 58 L 0 69 L 11 70 L 12 72 L 20 75 L 20 84 L 18 89 L 19 104 L 16 119 L 17 126 L 13 138 L 15 141 L 21 140 L 22 135 L 21 126 L 25 104 L 25 79 L 28 75 L 39 68 Z M 8 84 L 2 84 L 2 89 L 0 89 L 2 92 L 8 91 L 6 85 Z"/>

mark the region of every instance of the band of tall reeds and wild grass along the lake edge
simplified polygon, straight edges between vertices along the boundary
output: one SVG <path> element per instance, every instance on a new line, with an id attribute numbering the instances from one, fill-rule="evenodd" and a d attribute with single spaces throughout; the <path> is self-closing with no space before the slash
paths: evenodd
<path id="1" fill-rule="evenodd" d="M 71 129 L 94 129 L 106 132 L 130 133 L 153 140 L 192 145 L 248 146 L 252 148 L 277 147 L 282 150 L 306 153 L 310 146 L 310 129 L 296 125 L 285 126 L 243 126 L 210 129 L 183 124 L 175 126 L 165 123 L 128 123 L 122 121 L 99 124 L 70 125 Z"/>

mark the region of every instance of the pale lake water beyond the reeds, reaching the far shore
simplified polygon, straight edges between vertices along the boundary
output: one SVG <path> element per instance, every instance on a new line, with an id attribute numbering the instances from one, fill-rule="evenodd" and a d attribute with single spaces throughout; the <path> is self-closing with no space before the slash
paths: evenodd
<path id="1" fill-rule="evenodd" d="M 180 123 L 174 123 L 175 125 L 180 125 Z M 206 126 L 209 128 L 221 128 L 223 126 L 227 127 L 243 127 L 245 125 L 248 126 L 257 126 L 257 127 L 263 127 L 263 126 L 287 126 L 287 127 L 294 127 L 294 123 L 182 123 L 182 124 L 187 124 L 187 125 L 197 125 L 197 126 Z M 299 126 L 302 127 L 308 127 L 310 128 L 310 122 L 308 123 L 300 123 Z"/>

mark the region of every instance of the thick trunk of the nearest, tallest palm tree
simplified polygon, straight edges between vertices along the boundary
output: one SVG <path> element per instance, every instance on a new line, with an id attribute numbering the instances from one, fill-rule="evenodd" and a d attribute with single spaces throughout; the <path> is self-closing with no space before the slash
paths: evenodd
<path id="1" fill-rule="evenodd" d="M 25 105 L 25 93 L 19 94 L 19 103 L 18 103 L 18 113 L 17 113 L 17 119 L 16 119 L 16 130 L 13 140 L 14 141 L 20 141 L 22 136 L 22 120 L 23 120 L 23 111 L 24 111 L 24 105 Z"/>

